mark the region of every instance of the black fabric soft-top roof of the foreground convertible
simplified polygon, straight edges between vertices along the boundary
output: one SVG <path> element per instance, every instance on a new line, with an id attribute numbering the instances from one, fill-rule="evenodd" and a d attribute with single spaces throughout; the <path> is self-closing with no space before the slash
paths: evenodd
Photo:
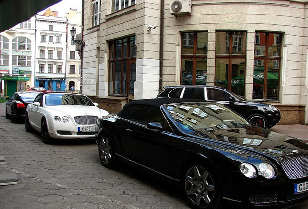
<path id="1" fill-rule="evenodd" d="M 155 108 L 159 108 L 163 104 L 169 104 L 169 103 L 182 103 L 182 102 L 202 102 L 202 103 L 213 103 L 213 102 L 206 102 L 204 100 L 198 100 L 198 99 L 180 99 L 180 98 L 155 98 L 155 99 L 142 99 L 142 100 L 134 100 L 131 101 L 123 107 L 123 109 L 117 114 L 119 116 L 122 115 L 123 111 L 130 106 L 133 105 L 147 105 Z"/>

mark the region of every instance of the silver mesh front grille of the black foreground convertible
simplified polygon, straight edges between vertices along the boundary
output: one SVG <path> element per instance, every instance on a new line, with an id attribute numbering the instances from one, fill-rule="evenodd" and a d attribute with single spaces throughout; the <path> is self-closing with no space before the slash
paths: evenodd
<path id="1" fill-rule="evenodd" d="M 281 166 L 289 179 L 308 176 L 308 155 L 293 157 L 282 161 Z"/>

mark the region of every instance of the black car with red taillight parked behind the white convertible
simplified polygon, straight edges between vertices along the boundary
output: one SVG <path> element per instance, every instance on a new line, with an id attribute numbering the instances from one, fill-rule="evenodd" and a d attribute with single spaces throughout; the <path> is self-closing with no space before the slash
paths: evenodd
<path id="1" fill-rule="evenodd" d="M 5 104 L 5 118 L 11 119 L 12 123 L 25 119 L 27 105 L 32 103 L 39 92 L 19 91 L 11 97 L 7 97 Z"/>

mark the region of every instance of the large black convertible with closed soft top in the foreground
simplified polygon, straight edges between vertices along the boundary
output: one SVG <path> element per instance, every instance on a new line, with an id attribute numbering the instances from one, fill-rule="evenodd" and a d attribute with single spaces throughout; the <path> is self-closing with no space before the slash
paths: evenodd
<path id="1" fill-rule="evenodd" d="M 105 167 L 121 160 L 177 182 L 197 209 L 223 200 L 280 209 L 308 199 L 308 144 L 252 126 L 222 104 L 132 101 L 98 119 L 95 134 Z"/>

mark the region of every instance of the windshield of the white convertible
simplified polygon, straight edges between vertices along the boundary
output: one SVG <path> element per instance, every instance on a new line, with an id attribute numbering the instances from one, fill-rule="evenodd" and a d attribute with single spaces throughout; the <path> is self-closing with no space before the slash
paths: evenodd
<path id="1" fill-rule="evenodd" d="M 95 106 L 88 97 L 78 94 L 47 94 L 45 96 L 45 104 L 46 106 L 58 106 L 58 105 Z"/>

